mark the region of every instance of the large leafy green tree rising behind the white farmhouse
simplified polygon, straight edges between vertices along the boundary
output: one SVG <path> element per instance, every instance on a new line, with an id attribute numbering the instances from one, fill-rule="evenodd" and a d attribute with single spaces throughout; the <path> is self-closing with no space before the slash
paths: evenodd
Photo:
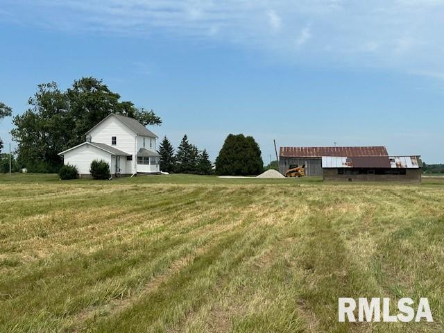
<path id="1" fill-rule="evenodd" d="M 57 171 L 60 151 L 85 142 L 85 133 L 110 113 L 133 117 L 144 125 L 160 125 L 154 112 L 136 108 L 110 91 L 96 78 L 74 81 L 67 91 L 57 83 L 45 83 L 28 104 L 24 114 L 14 118 L 12 137 L 18 144 L 18 160 L 30 171 Z M 37 168 L 38 166 L 38 168 Z"/>

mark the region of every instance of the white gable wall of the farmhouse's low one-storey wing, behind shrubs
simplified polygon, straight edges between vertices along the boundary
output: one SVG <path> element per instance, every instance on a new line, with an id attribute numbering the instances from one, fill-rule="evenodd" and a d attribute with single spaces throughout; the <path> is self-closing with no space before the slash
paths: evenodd
<path id="1" fill-rule="evenodd" d="M 74 148 L 63 155 L 63 163 L 75 165 L 80 175 L 89 175 L 89 166 L 93 160 L 105 160 L 112 167 L 111 154 L 89 144 Z"/>

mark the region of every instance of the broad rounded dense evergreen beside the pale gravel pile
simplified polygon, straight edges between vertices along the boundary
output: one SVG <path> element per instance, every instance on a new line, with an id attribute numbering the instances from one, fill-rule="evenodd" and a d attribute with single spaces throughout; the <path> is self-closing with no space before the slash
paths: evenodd
<path id="1" fill-rule="evenodd" d="M 261 150 L 253 137 L 228 135 L 216 158 L 218 175 L 257 175 L 264 169 Z"/>

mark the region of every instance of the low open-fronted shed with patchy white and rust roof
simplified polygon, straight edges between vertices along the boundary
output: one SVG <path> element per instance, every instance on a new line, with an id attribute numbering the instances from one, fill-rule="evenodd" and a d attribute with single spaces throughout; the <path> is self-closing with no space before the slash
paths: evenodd
<path id="1" fill-rule="evenodd" d="M 323 156 L 324 181 L 421 182 L 420 156 Z"/>

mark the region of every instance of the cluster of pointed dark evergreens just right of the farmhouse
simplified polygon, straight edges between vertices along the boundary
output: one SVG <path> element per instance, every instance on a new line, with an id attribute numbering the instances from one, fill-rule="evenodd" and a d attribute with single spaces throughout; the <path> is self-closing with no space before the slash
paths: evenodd
<path id="1" fill-rule="evenodd" d="M 188 142 L 187 135 L 182 137 L 177 152 L 165 136 L 159 144 L 157 153 L 160 155 L 160 170 L 175 173 L 194 173 L 210 175 L 213 173 L 212 163 L 207 150 L 199 151 L 197 146 Z"/>

